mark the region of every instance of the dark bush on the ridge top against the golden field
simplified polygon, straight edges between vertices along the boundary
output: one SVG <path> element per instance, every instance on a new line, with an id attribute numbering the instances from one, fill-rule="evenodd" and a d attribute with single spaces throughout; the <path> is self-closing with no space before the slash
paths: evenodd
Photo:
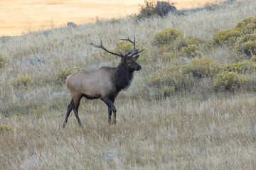
<path id="1" fill-rule="evenodd" d="M 176 11 L 176 7 L 170 1 L 144 1 L 140 5 L 137 18 L 149 18 L 151 16 L 166 16 L 169 12 Z"/>

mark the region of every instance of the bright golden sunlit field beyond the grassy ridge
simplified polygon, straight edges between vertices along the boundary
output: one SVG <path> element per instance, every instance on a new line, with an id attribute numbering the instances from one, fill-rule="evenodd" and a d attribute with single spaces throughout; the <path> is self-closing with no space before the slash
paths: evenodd
<path id="1" fill-rule="evenodd" d="M 174 0 L 177 8 L 191 8 L 216 0 Z M 0 36 L 65 26 L 67 22 L 82 24 L 97 18 L 122 18 L 138 13 L 144 0 L 1 0 Z M 21 19 L 22 18 L 22 19 Z"/>

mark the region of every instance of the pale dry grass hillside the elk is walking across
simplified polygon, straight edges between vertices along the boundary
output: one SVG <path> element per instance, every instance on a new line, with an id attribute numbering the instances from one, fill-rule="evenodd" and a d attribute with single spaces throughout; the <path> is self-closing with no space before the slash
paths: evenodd
<path id="1" fill-rule="evenodd" d="M 0 169 L 255 169 L 255 69 L 243 73 L 246 86 L 229 91 L 214 88 L 216 76 L 193 77 L 169 95 L 152 83 L 162 68 L 194 59 L 252 60 L 238 56 L 232 45 L 209 45 L 208 40 L 255 15 L 256 1 L 247 0 L 182 16 L 112 19 L 0 38 Z M 194 57 L 161 55 L 154 36 L 166 28 L 206 44 Z M 60 69 L 116 67 L 119 58 L 88 43 L 102 39 L 114 50 L 127 35 L 136 35 L 147 53 L 139 61 L 142 70 L 114 103 L 117 124 L 108 125 L 105 103 L 84 98 L 83 128 L 72 112 L 63 129 L 71 96 L 57 80 Z"/>

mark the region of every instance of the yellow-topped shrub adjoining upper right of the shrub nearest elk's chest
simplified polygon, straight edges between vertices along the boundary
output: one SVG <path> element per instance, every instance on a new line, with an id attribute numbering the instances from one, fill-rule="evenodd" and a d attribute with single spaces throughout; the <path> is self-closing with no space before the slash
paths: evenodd
<path id="1" fill-rule="evenodd" d="M 213 62 L 208 57 L 203 57 L 201 60 L 195 59 L 191 64 L 183 65 L 182 71 L 184 74 L 193 74 L 193 77 L 213 77 L 221 70 L 223 66 L 218 62 Z"/>

